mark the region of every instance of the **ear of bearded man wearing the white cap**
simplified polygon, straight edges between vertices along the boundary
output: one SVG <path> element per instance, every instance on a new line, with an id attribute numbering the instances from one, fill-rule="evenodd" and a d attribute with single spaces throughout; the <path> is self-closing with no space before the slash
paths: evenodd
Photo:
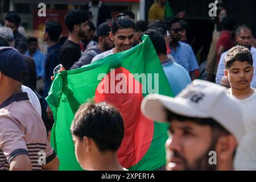
<path id="1" fill-rule="evenodd" d="M 217 159 L 228 160 L 233 159 L 234 152 L 236 151 L 237 140 L 233 135 L 225 135 L 218 138 L 216 143 Z"/>

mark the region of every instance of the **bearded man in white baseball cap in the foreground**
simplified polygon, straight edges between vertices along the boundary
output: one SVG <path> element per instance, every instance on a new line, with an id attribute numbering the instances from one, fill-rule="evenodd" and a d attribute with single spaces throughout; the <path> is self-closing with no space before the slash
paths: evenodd
<path id="1" fill-rule="evenodd" d="M 245 127 L 240 105 L 224 87 L 195 80 L 175 98 L 148 95 L 141 109 L 147 118 L 170 123 L 168 170 L 234 169 Z"/>

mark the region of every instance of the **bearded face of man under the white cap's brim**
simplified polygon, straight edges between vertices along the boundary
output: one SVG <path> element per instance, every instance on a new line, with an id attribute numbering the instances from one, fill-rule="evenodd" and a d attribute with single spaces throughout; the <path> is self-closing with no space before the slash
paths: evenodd
<path id="1" fill-rule="evenodd" d="M 209 151 L 214 151 L 211 129 L 208 125 L 198 125 L 192 121 L 171 122 L 172 136 L 167 140 L 167 169 L 171 171 L 213 170 Z"/>

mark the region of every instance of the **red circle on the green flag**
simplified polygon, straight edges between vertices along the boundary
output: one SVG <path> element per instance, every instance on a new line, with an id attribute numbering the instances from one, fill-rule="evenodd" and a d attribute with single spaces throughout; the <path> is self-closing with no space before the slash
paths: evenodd
<path id="1" fill-rule="evenodd" d="M 119 163 L 130 168 L 147 153 L 154 137 L 154 122 L 141 113 L 142 84 L 121 67 L 113 69 L 97 86 L 95 102 L 106 101 L 121 112 L 125 137 L 117 155 Z"/>

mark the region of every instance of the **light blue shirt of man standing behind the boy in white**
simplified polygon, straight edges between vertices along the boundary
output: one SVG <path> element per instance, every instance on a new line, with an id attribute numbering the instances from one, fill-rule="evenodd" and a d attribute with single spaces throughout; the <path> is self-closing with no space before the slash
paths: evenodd
<path id="1" fill-rule="evenodd" d="M 256 48 L 251 47 L 251 55 L 253 56 L 253 80 L 251 80 L 251 87 L 256 88 Z M 224 76 L 225 63 L 224 58 L 228 54 L 228 51 L 221 54 L 220 61 L 218 62 L 218 69 L 216 73 L 216 84 L 220 84 L 222 77 Z"/>

